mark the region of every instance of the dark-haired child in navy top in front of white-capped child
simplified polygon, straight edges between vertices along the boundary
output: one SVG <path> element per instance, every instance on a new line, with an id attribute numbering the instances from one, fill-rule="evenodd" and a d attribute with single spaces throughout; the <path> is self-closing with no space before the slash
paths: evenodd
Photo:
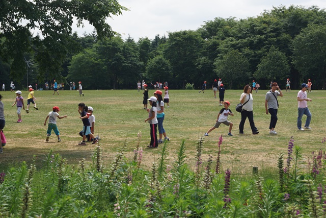
<path id="1" fill-rule="evenodd" d="M 89 135 L 90 139 L 94 139 L 92 144 L 95 144 L 98 142 L 98 139 L 94 137 L 94 135 L 91 133 L 91 123 L 88 119 L 89 115 L 87 113 L 88 107 L 84 103 L 78 104 L 78 113 L 80 114 L 80 119 L 82 119 L 84 127 L 83 127 L 83 141 L 78 143 L 79 145 L 85 146 L 86 145 L 86 136 Z"/>

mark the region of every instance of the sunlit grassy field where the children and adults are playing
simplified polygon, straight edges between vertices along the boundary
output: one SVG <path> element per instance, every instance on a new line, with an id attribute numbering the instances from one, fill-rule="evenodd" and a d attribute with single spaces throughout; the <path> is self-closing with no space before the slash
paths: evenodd
<path id="1" fill-rule="evenodd" d="M 253 166 L 259 166 L 259 170 L 275 167 L 277 156 L 281 152 L 287 153 L 287 145 L 291 136 L 294 144 L 303 148 L 304 160 L 308 161 L 311 152 L 324 148 L 321 140 L 326 136 L 326 120 L 324 103 L 326 92 L 313 91 L 308 94 L 309 109 L 312 113 L 312 130 L 298 131 L 296 128 L 298 90 L 285 92 L 283 98 L 279 97 L 280 109 L 276 131 L 278 135 L 269 135 L 270 115 L 265 114 L 264 98 L 267 90 L 254 92 L 254 120 L 259 130 L 258 135 L 252 135 L 248 119 L 244 125 L 244 134 L 240 135 L 238 125 L 240 113 L 235 111 L 235 105 L 239 102 L 241 90 L 226 90 L 225 100 L 231 102 L 231 110 L 235 114 L 229 117 L 234 124 L 232 133 L 227 136 L 228 127 L 221 125 L 205 137 L 203 157 L 204 161 L 212 154 L 216 158 L 219 136 L 223 134 L 221 146 L 221 161 L 223 168 L 232 168 L 239 174 L 250 173 Z M 149 96 L 153 90 L 150 90 Z M 77 105 L 84 102 L 94 108 L 95 134 L 101 137 L 99 141 L 103 149 L 104 163 L 113 160 L 117 148 L 126 141 L 127 157 L 133 156 L 133 149 L 137 144 L 137 133 L 142 132 L 141 145 L 144 149 L 143 161 L 150 165 L 158 157 L 159 149 L 147 148 L 150 136 L 149 125 L 144 123 L 148 113 L 143 110 L 143 94 L 137 90 L 85 90 L 84 97 L 79 97 L 78 91 L 60 91 L 60 95 L 52 95 L 53 91 L 35 91 L 36 103 L 39 110 L 30 108 L 30 113 L 22 112 L 22 123 L 17 122 L 14 92 L 1 92 L 4 96 L 6 127 L 4 132 L 7 137 L 7 146 L 4 153 L 0 154 L 0 172 L 8 166 L 15 165 L 19 161 L 30 161 L 33 155 L 38 155 L 38 164 L 44 159 L 44 154 L 53 149 L 67 158 L 70 164 L 76 164 L 85 157 L 91 160 L 94 145 L 78 146 L 82 139 L 79 131 L 82 130 L 82 121 L 78 118 Z M 27 99 L 28 92 L 22 96 Z M 61 142 L 57 142 L 56 135 L 52 132 L 49 142 L 45 141 L 47 126 L 44 120 L 53 106 L 59 106 L 60 115 L 68 115 L 67 118 L 58 119 L 57 124 L 61 134 Z M 218 99 L 214 99 L 213 92 L 206 90 L 198 93 L 198 90 L 170 90 L 170 108 L 166 108 L 164 127 L 169 141 L 170 161 L 174 160 L 176 150 L 182 139 L 186 141 L 189 164 L 195 165 L 197 140 L 215 124 L 215 119 L 222 106 Z M 303 117 L 303 125 L 306 116 Z"/>

